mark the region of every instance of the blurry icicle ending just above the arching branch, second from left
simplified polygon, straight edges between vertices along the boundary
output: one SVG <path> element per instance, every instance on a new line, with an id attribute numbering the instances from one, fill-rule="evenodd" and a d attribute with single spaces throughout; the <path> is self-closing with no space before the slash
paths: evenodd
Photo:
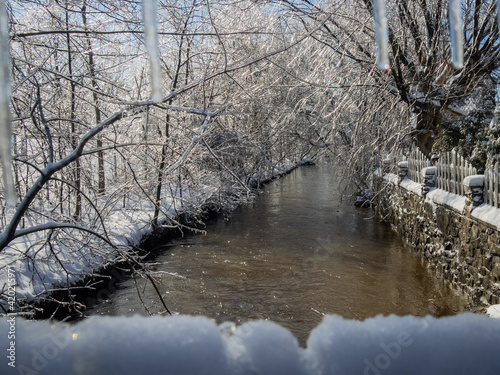
<path id="1" fill-rule="evenodd" d="M 146 50 L 149 55 L 151 69 L 151 99 L 155 102 L 161 99 L 161 65 L 158 54 L 158 25 L 156 23 L 156 0 L 142 0 L 144 16 L 144 34 Z"/>

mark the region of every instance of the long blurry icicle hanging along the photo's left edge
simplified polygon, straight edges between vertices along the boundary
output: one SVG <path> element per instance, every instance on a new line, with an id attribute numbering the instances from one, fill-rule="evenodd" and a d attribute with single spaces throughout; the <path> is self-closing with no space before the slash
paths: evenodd
<path id="1" fill-rule="evenodd" d="M 12 124 L 9 101 L 10 86 L 10 51 L 9 18 L 5 0 L 0 0 L 0 159 L 2 164 L 5 204 L 15 206 L 17 201 L 11 168 Z"/>

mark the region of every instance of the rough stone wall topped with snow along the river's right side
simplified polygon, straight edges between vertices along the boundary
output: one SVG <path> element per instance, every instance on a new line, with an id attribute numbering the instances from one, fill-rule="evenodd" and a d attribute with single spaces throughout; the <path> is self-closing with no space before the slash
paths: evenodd
<path id="1" fill-rule="evenodd" d="M 422 193 L 419 184 L 395 175 L 375 176 L 375 187 L 380 191 L 380 218 L 437 272 L 476 305 L 500 303 L 500 232 L 495 221 L 474 217 L 465 197 L 438 189 Z"/>

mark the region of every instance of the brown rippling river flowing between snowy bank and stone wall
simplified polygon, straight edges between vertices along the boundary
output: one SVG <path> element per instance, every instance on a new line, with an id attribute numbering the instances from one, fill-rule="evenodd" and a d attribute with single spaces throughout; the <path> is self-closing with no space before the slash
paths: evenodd
<path id="1" fill-rule="evenodd" d="M 150 267 L 172 312 L 218 323 L 269 319 L 304 343 L 324 314 L 453 315 L 464 295 L 388 226 L 344 197 L 334 165 L 296 169 L 228 220 L 155 249 Z M 91 315 L 163 311 L 144 280 L 120 282 Z"/>

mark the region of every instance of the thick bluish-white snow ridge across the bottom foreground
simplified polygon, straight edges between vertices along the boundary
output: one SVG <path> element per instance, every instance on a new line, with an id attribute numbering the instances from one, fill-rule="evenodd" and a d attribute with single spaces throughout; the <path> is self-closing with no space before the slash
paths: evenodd
<path id="1" fill-rule="evenodd" d="M 15 365 L 8 332 L 15 329 Z M 326 316 L 302 349 L 286 329 L 204 317 L 0 320 L 2 374 L 500 374 L 500 321 L 463 314 Z M 6 355 L 7 353 L 7 355 Z"/>

